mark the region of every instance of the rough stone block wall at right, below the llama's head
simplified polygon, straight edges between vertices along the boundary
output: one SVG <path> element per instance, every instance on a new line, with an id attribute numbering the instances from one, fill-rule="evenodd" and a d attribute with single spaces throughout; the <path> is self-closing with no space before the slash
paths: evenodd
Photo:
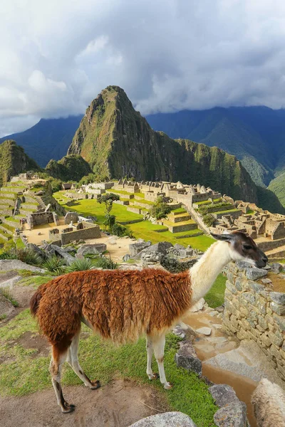
<path id="1" fill-rule="evenodd" d="M 238 339 L 257 342 L 285 381 L 285 293 L 274 291 L 266 273 L 242 261 L 229 264 L 223 328 Z"/>

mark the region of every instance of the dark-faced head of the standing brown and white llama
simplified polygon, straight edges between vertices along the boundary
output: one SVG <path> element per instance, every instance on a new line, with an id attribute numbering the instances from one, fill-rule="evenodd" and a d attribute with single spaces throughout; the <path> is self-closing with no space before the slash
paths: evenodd
<path id="1" fill-rule="evenodd" d="M 255 265 L 255 267 L 265 267 L 268 258 L 265 253 L 257 247 L 257 243 L 255 243 L 251 237 L 241 231 L 231 234 L 211 234 L 215 239 L 228 243 L 229 255 L 233 261 L 245 260 Z"/>

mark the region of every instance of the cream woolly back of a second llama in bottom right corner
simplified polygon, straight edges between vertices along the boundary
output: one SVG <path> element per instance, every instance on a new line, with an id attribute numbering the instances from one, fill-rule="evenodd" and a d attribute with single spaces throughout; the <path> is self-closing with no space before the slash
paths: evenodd
<path id="1" fill-rule="evenodd" d="M 277 384 L 264 378 L 252 394 L 258 427 L 285 427 L 285 394 Z"/>

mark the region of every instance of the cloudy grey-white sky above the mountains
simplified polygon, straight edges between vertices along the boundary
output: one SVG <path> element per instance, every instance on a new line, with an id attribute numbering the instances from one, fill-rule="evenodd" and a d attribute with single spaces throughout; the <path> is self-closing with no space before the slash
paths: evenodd
<path id="1" fill-rule="evenodd" d="M 0 136 L 120 85 L 142 114 L 285 107 L 284 0 L 9 0 Z"/>

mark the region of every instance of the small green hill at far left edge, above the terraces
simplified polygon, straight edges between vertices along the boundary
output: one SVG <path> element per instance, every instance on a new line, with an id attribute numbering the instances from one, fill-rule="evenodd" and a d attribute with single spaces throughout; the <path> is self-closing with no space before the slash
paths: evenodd
<path id="1" fill-rule="evenodd" d="M 0 186 L 9 181 L 11 176 L 31 170 L 39 171 L 41 168 L 15 141 L 7 139 L 0 144 Z"/>

